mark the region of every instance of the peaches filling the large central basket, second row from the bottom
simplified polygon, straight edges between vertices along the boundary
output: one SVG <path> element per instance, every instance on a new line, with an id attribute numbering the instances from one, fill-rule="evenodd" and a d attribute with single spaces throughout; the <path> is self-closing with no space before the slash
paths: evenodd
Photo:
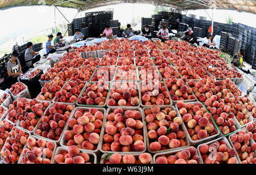
<path id="1" fill-rule="evenodd" d="M 107 116 L 102 139 L 103 151 L 142 152 L 144 144 L 142 114 L 138 110 L 116 108 Z"/>

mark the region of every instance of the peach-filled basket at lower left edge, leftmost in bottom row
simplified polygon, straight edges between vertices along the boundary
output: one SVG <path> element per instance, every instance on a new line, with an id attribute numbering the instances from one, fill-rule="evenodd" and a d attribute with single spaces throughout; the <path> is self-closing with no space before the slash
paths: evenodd
<path id="1" fill-rule="evenodd" d="M 19 141 L 16 140 L 14 138 L 14 136 L 11 135 L 11 132 L 13 132 L 12 134 L 17 134 L 19 133 L 20 135 L 20 139 Z M 6 142 L 5 144 L 3 145 L 3 148 L 1 150 L 1 158 L 3 161 L 5 161 L 6 164 L 11 164 L 11 163 L 14 163 L 14 164 L 17 164 L 19 159 L 16 159 L 16 156 L 20 156 L 20 154 L 22 152 L 19 152 L 19 148 L 16 148 L 18 147 L 17 144 L 16 144 L 16 147 L 13 146 L 14 143 L 12 143 L 10 140 L 11 139 L 15 139 L 16 143 L 20 143 L 21 145 L 21 149 L 23 151 L 23 148 L 24 148 L 24 145 L 27 143 L 27 138 L 30 136 L 30 133 L 28 133 L 27 131 L 24 131 L 23 129 L 21 129 L 20 127 L 17 127 L 17 126 L 14 126 L 13 129 L 11 129 L 11 132 L 9 133 L 9 137 L 6 139 Z M 11 155 L 7 156 L 5 153 L 5 150 L 6 150 L 6 147 L 8 147 L 8 150 L 11 152 Z M 14 150 L 15 149 L 15 150 Z M 16 151 L 17 150 L 17 151 Z M 16 156 L 15 156 L 16 155 Z M 13 159 L 10 159 L 10 158 L 13 158 Z M 20 158 L 20 157 L 19 157 Z"/>

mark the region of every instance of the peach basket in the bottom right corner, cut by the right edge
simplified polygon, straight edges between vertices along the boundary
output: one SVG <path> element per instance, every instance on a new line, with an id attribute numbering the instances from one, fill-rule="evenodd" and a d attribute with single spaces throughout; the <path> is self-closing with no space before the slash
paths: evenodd
<path id="1" fill-rule="evenodd" d="M 237 133 L 229 135 L 229 142 L 231 143 L 231 146 L 236 150 L 236 153 L 238 151 L 242 152 L 241 155 L 238 155 L 237 153 L 238 161 L 240 164 L 251 163 L 252 159 L 246 159 L 251 154 L 254 155 L 253 159 L 255 159 L 256 143 L 253 139 L 250 139 L 250 134 L 248 133 L 249 131 L 244 127 L 240 131 L 237 131 Z M 251 150 L 247 149 L 247 147 L 250 147 Z"/>

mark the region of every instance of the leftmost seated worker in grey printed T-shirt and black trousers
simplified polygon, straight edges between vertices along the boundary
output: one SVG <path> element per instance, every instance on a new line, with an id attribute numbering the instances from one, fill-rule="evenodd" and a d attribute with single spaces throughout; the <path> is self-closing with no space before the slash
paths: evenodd
<path id="1" fill-rule="evenodd" d="M 22 74 L 22 67 L 18 59 L 18 51 L 14 50 L 11 59 L 7 62 L 7 78 L 2 82 L 1 89 L 10 88 L 12 84 L 18 82 L 18 77 Z"/>

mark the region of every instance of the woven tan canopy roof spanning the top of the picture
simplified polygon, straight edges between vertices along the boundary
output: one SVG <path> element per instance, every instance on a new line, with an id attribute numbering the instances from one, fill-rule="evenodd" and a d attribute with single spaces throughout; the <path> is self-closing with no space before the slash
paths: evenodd
<path id="1" fill-rule="evenodd" d="M 168 6 L 178 10 L 216 8 L 256 14 L 255 0 L 0 0 L 0 10 L 31 5 L 61 6 L 77 8 L 79 10 L 88 10 L 90 8 L 119 3 L 148 3 Z"/>

